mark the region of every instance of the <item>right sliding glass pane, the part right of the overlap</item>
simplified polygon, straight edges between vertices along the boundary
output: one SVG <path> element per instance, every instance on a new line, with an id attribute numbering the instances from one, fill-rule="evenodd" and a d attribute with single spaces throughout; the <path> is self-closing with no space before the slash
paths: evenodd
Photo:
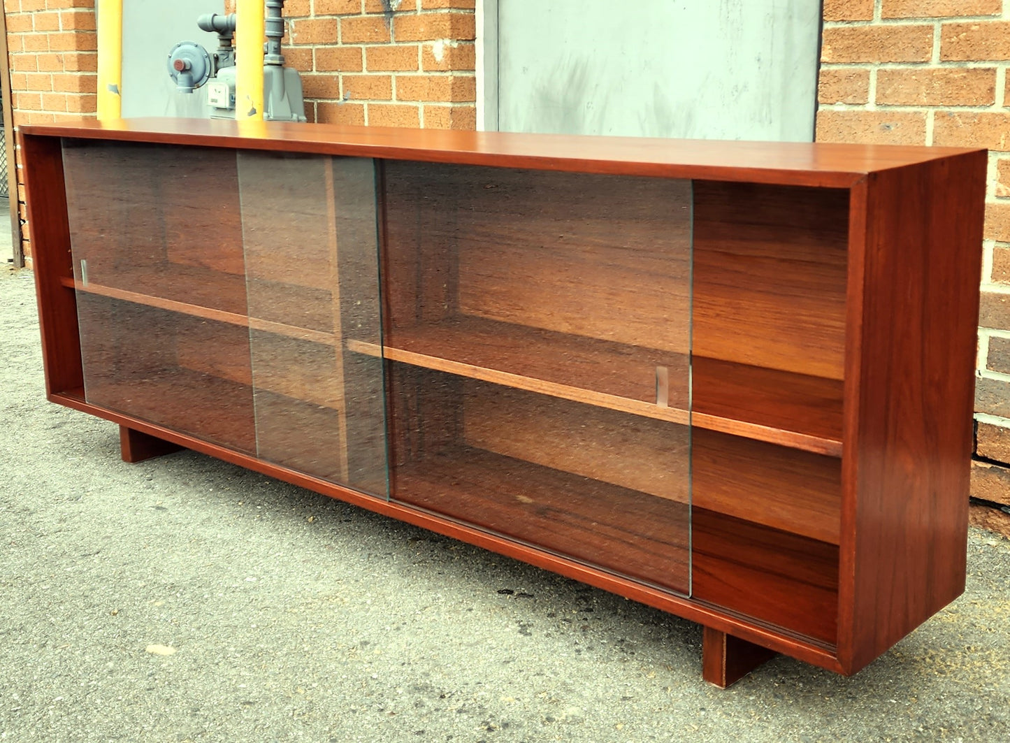
<path id="1" fill-rule="evenodd" d="M 690 182 L 384 183 L 393 497 L 689 593 Z"/>

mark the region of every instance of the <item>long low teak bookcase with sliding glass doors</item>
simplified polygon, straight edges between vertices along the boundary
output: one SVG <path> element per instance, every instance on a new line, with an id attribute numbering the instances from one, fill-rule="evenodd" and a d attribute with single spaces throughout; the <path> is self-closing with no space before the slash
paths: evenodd
<path id="1" fill-rule="evenodd" d="M 21 127 L 49 400 L 852 673 L 965 586 L 985 150 Z"/>

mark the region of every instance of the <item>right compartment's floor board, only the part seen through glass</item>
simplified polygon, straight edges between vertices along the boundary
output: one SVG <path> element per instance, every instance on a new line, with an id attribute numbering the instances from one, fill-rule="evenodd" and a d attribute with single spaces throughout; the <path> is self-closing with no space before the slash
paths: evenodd
<path id="1" fill-rule="evenodd" d="M 686 505 L 469 446 L 394 467 L 393 498 L 688 591 Z"/>

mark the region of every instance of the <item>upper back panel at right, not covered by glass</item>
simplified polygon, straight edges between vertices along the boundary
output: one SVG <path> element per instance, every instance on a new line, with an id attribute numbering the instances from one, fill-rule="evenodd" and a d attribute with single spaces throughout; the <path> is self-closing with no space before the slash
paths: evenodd
<path id="1" fill-rule="evenodd" d="M 848 192 L 696 181 L 693 351 L 840 380 Z"/>

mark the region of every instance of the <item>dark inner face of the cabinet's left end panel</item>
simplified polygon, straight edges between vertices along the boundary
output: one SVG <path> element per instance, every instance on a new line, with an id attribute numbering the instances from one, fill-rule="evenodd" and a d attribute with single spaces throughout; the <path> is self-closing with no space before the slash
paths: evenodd
<path id="1" fill-rule="evenodd" d="M 81 339 L 74 290 L 61 283 L 74 276 L 60 139 L 21 136 L 25 203 L 31 224 L 31 261 L 42 335 L 45 392 L 84 387 Z"/>

